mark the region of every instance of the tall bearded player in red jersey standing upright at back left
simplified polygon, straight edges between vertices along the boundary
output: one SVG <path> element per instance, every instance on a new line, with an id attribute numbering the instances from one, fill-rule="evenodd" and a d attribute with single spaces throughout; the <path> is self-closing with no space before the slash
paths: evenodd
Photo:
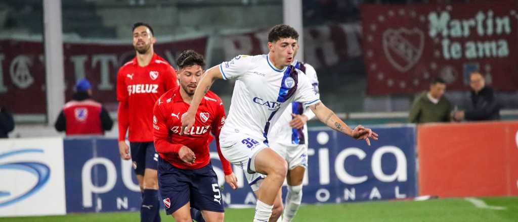
<path id="1" fill-rule="evenodd" d="M 164 92 L 178 86 L 176 71 L 156 55 L 153 28 L 146 23 L 133 25 L 136 57 L 119 69 L 117 100 L 119 111 L 119 152 L 124 160 L 133 160 L 133 168 L 142 192 L 141 221 L 160 221 L 158 197 L 158 154 L 153 146 L 153 105 Z M 126 144 L 129 129 L 130 150 Z"/>

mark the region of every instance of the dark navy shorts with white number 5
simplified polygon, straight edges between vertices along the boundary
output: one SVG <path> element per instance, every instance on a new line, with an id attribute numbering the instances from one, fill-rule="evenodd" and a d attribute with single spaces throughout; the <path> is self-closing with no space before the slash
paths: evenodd
<path id="1" fill-rule="evenodd" d="M 159 158 L 159 189 L 166 213 L 187 202 L 200 211 L 224 212 L 218 177 L 209 163 L 195 170 L 179 169 Z"/>

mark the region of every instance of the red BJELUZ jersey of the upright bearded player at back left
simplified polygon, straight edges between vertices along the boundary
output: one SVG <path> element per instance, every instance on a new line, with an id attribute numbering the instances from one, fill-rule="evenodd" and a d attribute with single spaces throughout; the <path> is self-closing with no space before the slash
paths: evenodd
<path id="1" fill-rule="evenodd" d="M 124 64 L 117 74 L 119 140 L 153 141 L 153 105 L 168 90 L 178 86 L 176 71 L 160 56 L 153 54 L 145 67 L 137 57 Z"/>

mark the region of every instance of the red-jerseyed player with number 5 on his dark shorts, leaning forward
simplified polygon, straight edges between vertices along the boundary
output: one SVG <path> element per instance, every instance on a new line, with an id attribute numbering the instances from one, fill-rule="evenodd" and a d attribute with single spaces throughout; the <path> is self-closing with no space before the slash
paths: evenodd
<path id="1" fill-rule="evenodd" d="M 190 133 L 180 135 L 181 116 L 189 109 L 205 62 L 202 55 L 188 50 L 180 54 L 177 64 L 180 87 L 164 93 L 153 109 L 154 142 L 160 155 L 160 194 L 166 213 L 172 214 L 176 221 L 192 221 L 190 208 L 202 211 L 206 221 L 223 221 L 221 192 L 209 153 L 212 133 L 225 181 L 236 189 L 236 176 L 219 145 L 220 130 L 225 123 L 223 103 L 215 93 L 208 91 Z"/>

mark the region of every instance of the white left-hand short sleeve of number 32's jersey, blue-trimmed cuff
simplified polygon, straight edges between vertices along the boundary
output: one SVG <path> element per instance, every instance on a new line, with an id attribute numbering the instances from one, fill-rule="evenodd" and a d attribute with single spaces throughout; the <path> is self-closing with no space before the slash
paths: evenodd
<path id="1" fill-rule="evenodd" d="M 246 73 L 252 67 L 252 56 L 238 55 L 230 61 L 220 64 L 220 72 L 224 80 L 232 80 Z"/>

